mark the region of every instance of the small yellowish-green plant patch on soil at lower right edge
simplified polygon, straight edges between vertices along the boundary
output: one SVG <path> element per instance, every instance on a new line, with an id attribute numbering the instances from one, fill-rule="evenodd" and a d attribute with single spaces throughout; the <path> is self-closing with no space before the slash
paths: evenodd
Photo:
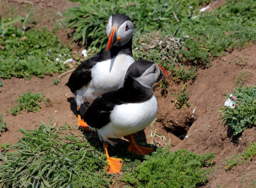
<path id="1" fill-rule="evenodd" d="M 243 164 L 246 160 L 252 161 L 253 157 L 256 155 L 256 143 L 249 143 L 249 147 L 241 154 L 232 155 L 227 161 L 226 170 L 230 170 L 232 167 Z"/>

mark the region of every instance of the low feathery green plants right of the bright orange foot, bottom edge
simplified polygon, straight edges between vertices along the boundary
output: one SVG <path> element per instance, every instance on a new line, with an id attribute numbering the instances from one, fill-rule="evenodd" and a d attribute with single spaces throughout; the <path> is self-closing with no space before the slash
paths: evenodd
<path id="1" fill-rule="evenodd" d="M 120 179 L 136 187 L 196 187 L 207 181 L 214 154 L 196 155 L 182 149 L 158 148 Z"/>

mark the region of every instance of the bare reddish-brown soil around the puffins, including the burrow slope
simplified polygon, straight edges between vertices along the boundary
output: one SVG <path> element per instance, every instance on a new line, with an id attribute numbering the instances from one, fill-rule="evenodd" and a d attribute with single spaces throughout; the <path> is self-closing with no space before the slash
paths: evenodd
<path id="1" fill-rule="evenodd" d="M 58 11 L 62 13 L 69 6 L 76 5 L 65 0 L 54 1 L 54 3 L 40 2 L 35 3 L 35 15 L 42 19 L 42 22 L 36 24 L 37 28 L 47 25 L 51 29 L 54 27 L 53 22 L 51 22 L 54 13 Z M 0 1 L 0 13 L 3 13 L 2 10 L 6 13 L 8 8 L 11 9 L 15 6 L 23 8 L 28 4 Z M 2 9 L 3 7 L 5 9 Z M 57 32 L 63 43 L 66 44 L 70 41 L 67 33 L 68 31 L 65 29 L 59 29 Z M 74 43 L 72 46 L 79 49 Z M 152 128 L 148 126 L 145 129 L 146 136 L 152 135 L 147 137 L 148 143 L 156 143 L 157 146 L 164 147 L 168 145 L 168 141 L 171 139 L 171 151 L 186 148 L 196 154 L 216 153 L 215 170 L 205 187 L 218 187 L 218 185 L 221 187 L 252 187 L 253 180 L 256 179 L 255 161 L 248 161 L 230 171 L 224 170 L 227 165 L 225 161 L 229 159 L 230 155 L 243 152 L 250 141 L 256 141 L 256 131 L 255 129 L 248 129 L 244 131 L 239 140 L 234 141 L 227 126 L 221 123 L 219 112 L 220 107 L 224 105 L 225 94 L 234 91 L 237 75 L 240 71 L 251 73 L 247 78 L 246 85 L 255 85 L 255 51 L 256 46 L 250 45 L 241 51 L 234 50 L 226 56 L 215 59 L 209 68 L 200 68 L 195 80 L 189 82 L 186 89 L 186 92 L 189 93 L 189 108 L 178 110 L 173 103 L 175 96 L 172 96 L 171 93 L 179 93 L 183 86 L 182 82 L 174 82 L 170 76 L 168 88 L 164 92 L 159 85 L 154 87 L 159 110 L 154 126 Z M 237 57 L 243 60 L 237 62 Z M 76 109 L 76 104 L 72 93 L 65 86 L 70 73 L 61 78 L 59 85 L 51 84 L 57 76 L 54 74 L 44 78 L 34 76 L 31 80 L 25 78 L 3 80 L 4 87 L 1 88 L 2 92 L 0 92 L 0 114 L 4 114 L 3 118 L 8 124 L 9 130 L 6 133 L 1 133 L 0 143 L 15 143 L 18 140 L 17 137 L 22 136 L 17 132 L 20 127 L 34 129 L 42 122 L 49 123 L 51 115 L 52 124 L 55 122 L 60 125 L 76 124 L 77 118 L 73 112 Z M 44 92 L 45 98 L 52 101 L 51 105 L 42 105 L 40 112 L 36 113 L 22 112 L 16 116 L 5 113 L 16 105 L 15 99 L 19 95 L 28 91 Z M 195 112 L 193 113 L 194 109 Z M 193 118 L 191 118 L 192 115 Z M 156 129 L 156 133 L 161 134 L 162 137 L 152 134 Z"/>

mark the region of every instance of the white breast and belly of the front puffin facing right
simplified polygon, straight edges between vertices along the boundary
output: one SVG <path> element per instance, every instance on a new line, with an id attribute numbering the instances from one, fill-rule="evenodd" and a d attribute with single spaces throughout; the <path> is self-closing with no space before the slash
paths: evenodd
<path id="1" fill-rule="evenodd" d="M 157 101 L 155 96 L 143 103 L 116 105 L 111 112 L 108 125 L 97 129 L 102 140 L 119 138 L 136 133 L 147 127 L 156 117 Z"/>

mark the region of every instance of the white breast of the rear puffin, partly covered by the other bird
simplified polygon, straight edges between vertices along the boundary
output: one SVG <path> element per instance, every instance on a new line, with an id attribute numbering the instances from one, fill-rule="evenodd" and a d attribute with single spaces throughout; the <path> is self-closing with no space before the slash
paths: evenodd
<path id="1" fill-rule="evenodd" d="M 130 55 L 117 55 L 108 61 L 97 62 L 92 68 L 90 83 L 76 91 L 76 103 L 92 101 L 105 92 L 119 89 L 124 85 L 124 76 L 134 62 Z"/>

